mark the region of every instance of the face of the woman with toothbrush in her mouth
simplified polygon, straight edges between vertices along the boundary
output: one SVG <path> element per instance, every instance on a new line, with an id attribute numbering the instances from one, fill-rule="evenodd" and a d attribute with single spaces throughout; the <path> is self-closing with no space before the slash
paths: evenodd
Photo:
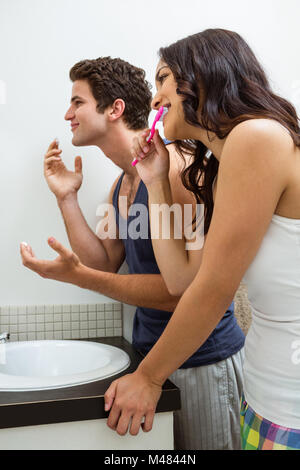
<path id="1" fill-rule="evenodd" d="M 162 60 L 159 61 L 156 68 L 155 83 L 157 92 L 151 103 L 152 108 L 157 110 L 161 106 L 168 108 L 168 112 L 163 118 L 165 137 L 168 140 L 189 138 L 186 129 L 188 124 L 184 119 L 182 107 L 183 99 L 176 93 L 178 85 L 171 69 Z"/>

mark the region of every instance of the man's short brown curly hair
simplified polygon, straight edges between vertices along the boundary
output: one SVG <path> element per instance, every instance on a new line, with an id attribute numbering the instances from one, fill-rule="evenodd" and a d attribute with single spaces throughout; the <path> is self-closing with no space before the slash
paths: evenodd
<path id="1" fill-rule="evenodd" d="M 145 75 L 143 69 L 111 57 L 82 60 L 70 70 L 72 82 L 87 80 L 99 113 L 103 113 L 116 99 L 124 100 L 122 117 L 127 127 L 133 130 L 148 127 L 152 95 Z"/>

